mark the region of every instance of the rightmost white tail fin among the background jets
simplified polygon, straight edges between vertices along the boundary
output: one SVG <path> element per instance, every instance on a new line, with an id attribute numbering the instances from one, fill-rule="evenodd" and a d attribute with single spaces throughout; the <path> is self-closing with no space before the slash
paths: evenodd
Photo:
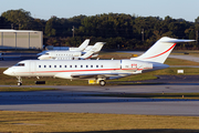
<path id="1" fill-rule="evenodd" d="M 105 42 L 96 42 L 93 48 L 91 48 L 90 51 L 87 51 L 84 55 L 81 57 L 81 59 L 90 59 L 94 53 L 97 53 L 101 51 Z"/>

